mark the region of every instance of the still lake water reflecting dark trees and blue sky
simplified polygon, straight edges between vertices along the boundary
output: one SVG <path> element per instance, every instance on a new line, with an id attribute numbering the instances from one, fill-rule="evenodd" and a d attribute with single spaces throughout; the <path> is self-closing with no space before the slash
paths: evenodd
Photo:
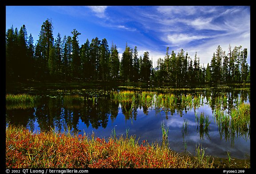
<path id="1" fill-rule="evenodd" d="M 176 87 L 176 86 L 175 86 Z M 37 96 L 33 106 L 6 105 L 6 124 L 23 125 L 32 131 L 48 131 L 55 128 L 107 138 L 112 136 L 136 135 L 141 143 L 162 141 L 161 124 L 168 128 L 169 147 L 177 152 L 195 155 L 199 146 L 205 148 L 206 155 L 227 157 L 227 151 L 234 158 L 250 156 L 250 131 L 221 131 L 214 111 L 216 107 L 228 113 L 238 102 L 250 103 L 250 89 L 243 86 L 198 86 L 175 89 L 173 86 L 72 86 L 68 88 L 41 86 L 8 89 L 6 93 L 28 93 Z M 174 89 L 173 89 L 174 88 Z M 189 89 L 189 88 L 192 88 Z M 151 94 L 148 102 L 115 100 L 113 93 L 131 91 L 137 97 Z M 147 91 L 147 92 L 145 92 Z M 171 93 L 175 96 L 172 105 L 156 102 L 159 94 Z M 183 103 L 183 96 L 191 95 L 199 99 L 197 104 Z M 68 100 L 67 96 L 82 97 Z M 207 129 L 200 128 L 197 118 L 208 117 Z M 197 116 L 197 117 L 196 117 Z"/>

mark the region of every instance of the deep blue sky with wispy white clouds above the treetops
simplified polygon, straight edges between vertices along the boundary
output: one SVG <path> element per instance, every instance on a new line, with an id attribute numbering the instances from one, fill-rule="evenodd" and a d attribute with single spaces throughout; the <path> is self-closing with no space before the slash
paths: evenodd
<path id="1" fill-rule="evenodd" d="M 250 65 L 250 6 L 6 6 L 6 30 L 24 24 L 35 43 L 47 18 L 54 38 L 71 36 L 73 29 L 81 33 L 80 45 L 106 38 L 120 58 L 127 42 L 137 46 L 139 56 L 148 51 L 153 66 L 167 47 L 176 54 L 183 49 L 191 58 L 197 52 L 206 66 L 218 45 L 228 54 L 229 44 L 248 48 Z"/>

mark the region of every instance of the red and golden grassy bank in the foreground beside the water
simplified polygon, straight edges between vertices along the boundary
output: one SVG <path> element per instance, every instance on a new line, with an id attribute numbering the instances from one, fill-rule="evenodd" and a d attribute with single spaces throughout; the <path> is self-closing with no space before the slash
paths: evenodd
<path id="1" fill-rule="evenodd" d="M 179 155 L 158 143 L 138 143 L 135 136 L 96 138 L 93 134 L 32 133 L 6 128 L 6 168 L 218 168 L 214 158 L 196 148 L 196 157 Z"/>

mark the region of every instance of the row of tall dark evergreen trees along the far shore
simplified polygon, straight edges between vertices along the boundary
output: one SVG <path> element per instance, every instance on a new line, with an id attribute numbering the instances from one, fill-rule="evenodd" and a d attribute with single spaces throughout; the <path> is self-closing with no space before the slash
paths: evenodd
<path id="1" fill-rule="evenodd" d="M 41 26 L 39 39 L 34 44 L 23 25 L 18 31 L 13 26 L 6 32 L 7 81 L 145 81 L 145 82 L 244 82 L 250 81 L 250 66 L 246 62 L 248 50 L 231 46 L 228 53 L 217 47 L 211 62 L 200 65 L 183 49 L 177 54 L 169 47 L 164 58 L 158 58 L 153 68 L 148 51 L 138 57 L 135 46 L 126 43 L 119 57 L 116 44 L 109 49 L 107 39 L 87 39 L 79 46 L 76 29 L 71 36 L 60 33 L 54 39 L 51 19 Z"/>

